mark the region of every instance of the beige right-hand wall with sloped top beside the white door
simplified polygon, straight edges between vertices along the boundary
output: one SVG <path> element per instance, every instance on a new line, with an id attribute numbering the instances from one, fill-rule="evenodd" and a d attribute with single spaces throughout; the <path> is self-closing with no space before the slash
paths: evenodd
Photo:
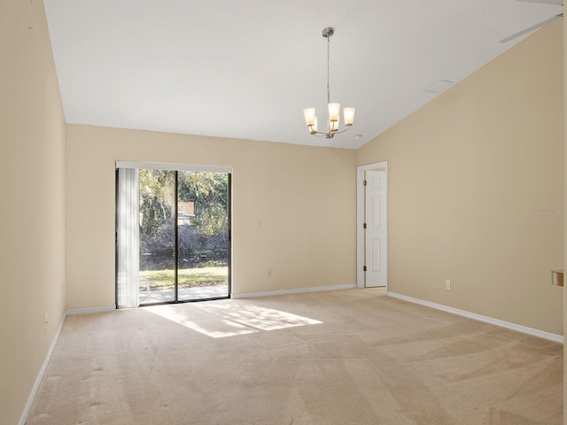
<path id="1" fill-rule="evenodd" d="M 388 161 L 392 292 L 563 335 L 562 22 L 358 151 Z"/>

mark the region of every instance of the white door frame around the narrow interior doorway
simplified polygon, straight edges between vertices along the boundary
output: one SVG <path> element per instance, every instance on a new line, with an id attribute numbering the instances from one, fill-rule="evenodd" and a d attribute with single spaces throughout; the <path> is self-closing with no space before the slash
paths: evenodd
<path id="1" fill-rule="evenodd" d="M 365 166 L 356 167 L 356 287 L 364 288 L 364 173 L 366 171 L 385 171 L 386 182 L 388 176 L 388 161 L 376 162 Z M 386 186 L 386 241 L 385 241 L 385 264 L 386 264 L 386 292 L 388 291 L 388 192 Z"/>

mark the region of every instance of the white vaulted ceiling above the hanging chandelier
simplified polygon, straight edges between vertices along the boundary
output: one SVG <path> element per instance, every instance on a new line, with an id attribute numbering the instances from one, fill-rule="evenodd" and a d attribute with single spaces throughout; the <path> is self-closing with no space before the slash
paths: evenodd
<path id="1" fill-rule="evenodd" d="M 423 90 L 432 82 L 461 81 L 521 38 L 499 40 L 563 12 L 517 0 L 44 3 L 69 123 L 352 149 L 439 96 Z M 302 113 L 324 116 L 324 27 L 331 101 L 356 108 L 330 140 L 308 135 Z"/>

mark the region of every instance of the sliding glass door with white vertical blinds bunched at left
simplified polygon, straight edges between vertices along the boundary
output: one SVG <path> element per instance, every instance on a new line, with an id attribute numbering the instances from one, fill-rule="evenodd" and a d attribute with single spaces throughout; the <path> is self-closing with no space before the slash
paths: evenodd
<path id="1" fill-rule="evenodd" d="M 123 189 L 118 174 L 117 306 L 228 298 L 230 173 L 159 167 L 136 168 L 137 190 Z M 128 197 L 137 209 L 124 213 Z M 136 235 L 124 233 L 125 223 Z"/>

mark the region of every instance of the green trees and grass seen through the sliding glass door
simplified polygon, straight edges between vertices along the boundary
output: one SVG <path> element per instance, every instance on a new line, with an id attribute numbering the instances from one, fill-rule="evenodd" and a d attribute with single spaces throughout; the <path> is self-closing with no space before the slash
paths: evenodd
<path id="1" fill-rule="evenodd" d="M 184 267 L 178 271 L 179 288 L 227 284 L 228 174 L 177 173 L 179 202 L 193 202 L 190 224 L 175 222 L 175 171 L 140 170 L 139 195 L 140 287 L 173 288 L 175 252 Z"/>

